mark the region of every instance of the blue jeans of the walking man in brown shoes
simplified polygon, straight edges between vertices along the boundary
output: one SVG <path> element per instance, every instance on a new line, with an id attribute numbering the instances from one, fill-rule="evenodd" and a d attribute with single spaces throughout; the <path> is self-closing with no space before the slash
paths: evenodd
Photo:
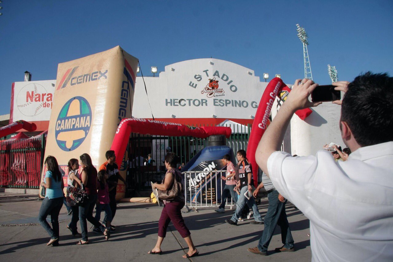
<path id="1" fill-rule="evenodd" d="M 278 191 L 274 190 L 268 194 L 269 206 L 266 216 L 264 218 L 264 229 L 261 238 L 259 238 L 258 249 L 261 252 L 266 252 L 272 240 L 274 229 L 276 225 L 281 227 L 281 241 L 285 248 L 294 247 L 294 239 L 292 238 L 291 230 L 289 228 L 288 219 L 285 213 L 285 204 L 278 200 Z"/>

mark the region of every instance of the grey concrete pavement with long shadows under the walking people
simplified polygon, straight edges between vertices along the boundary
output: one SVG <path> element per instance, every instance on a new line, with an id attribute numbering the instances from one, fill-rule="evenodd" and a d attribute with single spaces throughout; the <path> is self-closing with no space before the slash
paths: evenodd
<path id="1" fill-rule="evenodd" d="M 77 246 L 80 238 L 74 238 L 66 225 L 71 216 L 63 206 L 59 215 L 60 246 L 47 247 L 49 236 L 38 223 L 37 216 L 41 201 L 36 195 L 0 193 L 0 259 L 2 261 L 187 261 L 182 255 L 187 252 L 185 241 L 173 225 L 169 225 L 167 236 L 162 244 L 162 255 L 149 255 L 157 240 L 158 219 L 162 207 L 146 203 L 119 203 L 113 224 L 116 232 L 105 241 L 103 235 L 89 232 L 89 245 Z M 266 214 L 267 199 L 263 198 L 259 211 Z M 199 256 L 191 261 L 310 261 L 309 220 L 293 205 L 286 205 L 288 221 L 295 240 L 296 252 L 275 253 L 281 247 L 281 234 L 276 228 L 269 246 L 268 256 L 254 255 L 248 247 L 257 246 L 263 225 L 252 225 L 250 220 L 231 226 L 224 222 L 232 211 L 225 214 L 213 209 L 199 209 L 187 212 L 183 209 L 185 224 Z M 103 217 L 103 214 L 101 214 Z M 90 225 L 88 223 L 88 225 Z M 79 224 L 78 224 L 78 230 Z M 84 259 L 85 258 L 85 259 Z"/>

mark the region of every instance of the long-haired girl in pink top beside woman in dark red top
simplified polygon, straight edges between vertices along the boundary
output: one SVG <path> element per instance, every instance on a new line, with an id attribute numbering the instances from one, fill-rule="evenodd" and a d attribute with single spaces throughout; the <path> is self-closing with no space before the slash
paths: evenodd
<path id="1" fill-rule="evenodd" d="M 107 224 L 105 226 L 105 231 L 107 231 L 108 235 L 105 235 L 105 239 L 109 239 L 110 234 L 110 222 L 112 222 L 112 211 L 109 206 L 109 187 L 107 183 L 108 174 L 105 170 L 100 170 L 97 174 L 97 207 L 95 211 L 95 219 L 100 220 L 101 218 L 101 210 L 105 210 L 105 214 L 107 215 Z M 94 228 L 95 233 L 101 233 L 101 230 Z"/>

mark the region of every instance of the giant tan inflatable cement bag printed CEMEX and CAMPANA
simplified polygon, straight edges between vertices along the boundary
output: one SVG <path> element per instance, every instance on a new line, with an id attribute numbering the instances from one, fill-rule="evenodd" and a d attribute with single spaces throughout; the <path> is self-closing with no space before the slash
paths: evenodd
<path id="1" fill-rule="evenodd" d="M 137 65 L 120 46 L 59 64 L 45 156 L 57 159 L 64 184 L 71 158 L 88 153 L 97 169 L 107 160 L 121 119 L 131 117 Z M 119 169 L 125 178 L 124 161 Z M 42 178 L 45 172 L 44 165 Z M 124 194 L 119 181 L 116 198 Z"/>

